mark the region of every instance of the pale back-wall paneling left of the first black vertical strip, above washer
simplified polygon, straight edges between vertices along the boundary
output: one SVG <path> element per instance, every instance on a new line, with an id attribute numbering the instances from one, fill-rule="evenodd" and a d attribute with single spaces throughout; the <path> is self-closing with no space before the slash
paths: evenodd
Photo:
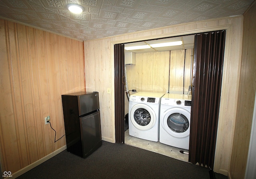
<path id="1" fill-rule="evenodd" d="M 129 90 L 166 92 L 168 88 L 169 54 L 170 51 L 136 54 L 136 64 L 126 65 Z"/>

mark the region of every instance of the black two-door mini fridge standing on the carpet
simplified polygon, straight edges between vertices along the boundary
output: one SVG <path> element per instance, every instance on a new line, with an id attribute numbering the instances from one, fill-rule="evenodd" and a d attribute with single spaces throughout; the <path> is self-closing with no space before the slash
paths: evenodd
<path id="1" fill-rule="evenodd" d="M 61 95 L 67 151 L 87 157 L 102 145 L 98 92 Z"/>

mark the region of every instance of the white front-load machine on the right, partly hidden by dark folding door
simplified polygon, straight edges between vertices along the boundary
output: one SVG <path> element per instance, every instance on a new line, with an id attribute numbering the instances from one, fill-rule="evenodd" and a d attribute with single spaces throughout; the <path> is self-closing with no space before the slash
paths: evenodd
<path id="1" fill-rule="evenodd" d="M 192 95 L 167 93 L 161 99 L 159 141 L 189 149 Z"/>

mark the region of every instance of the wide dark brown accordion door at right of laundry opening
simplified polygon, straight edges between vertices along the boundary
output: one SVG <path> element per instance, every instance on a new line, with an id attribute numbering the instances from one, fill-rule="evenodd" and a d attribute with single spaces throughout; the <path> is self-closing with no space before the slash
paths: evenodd
<path id="1" fill-rule="evenodd" d="M 189 159 L 213 168 L 226 30 L 195 36 Z"/>

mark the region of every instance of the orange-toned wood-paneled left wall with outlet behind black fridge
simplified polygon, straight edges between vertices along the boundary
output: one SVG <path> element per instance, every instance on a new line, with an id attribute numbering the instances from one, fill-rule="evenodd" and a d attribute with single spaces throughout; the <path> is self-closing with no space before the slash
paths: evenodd
<path id="1" fill-rule="evenodd" d="M 0 151 L 12 174 L 66 145 L 61 95 L 84 91 L 83 42 L 0 19 Z"/>

